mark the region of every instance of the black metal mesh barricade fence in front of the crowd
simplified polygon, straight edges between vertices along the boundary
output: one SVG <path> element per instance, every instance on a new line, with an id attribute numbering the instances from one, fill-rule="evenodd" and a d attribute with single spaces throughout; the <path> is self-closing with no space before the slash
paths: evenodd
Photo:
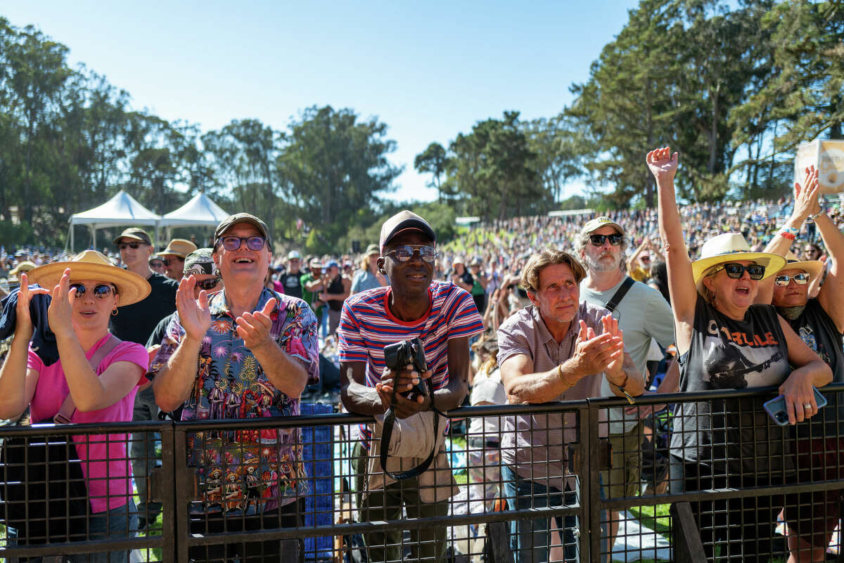
<path id="1" fill-rule="evenodd" d="M 111 553 L 110 560 L 132 561 L 246 563 L 301 557 L 337 563 L 525 563 L 605 561 L 610 551 L 616 560 L 702 560 L 706 555 L 752 560 L 755 550 L 763 555 L 760 560 L 785 561 L 782 523 L 776 529 L 782 507 L 784 519 L 795 529 L 801 527 L 801 538 L 815 544 L 820 536 L 828 539 L 827 528 L 837 523 L 836 499 L 844 480 L 844 448 L 838 439 L 844 435 L 839 428 L 844 385 L 830 386 L 825 394 L 829 405 L 814 422 L 788 426 L 784 432 L 768 424 L 760 410 L 773 393 L 758 389 L 648 396 L 633 407 L 624 399 L 590 399 L 461 408 L 448 414 L 445 453 L 434 464 L 441 479 L 414 477 L 386 486 L 380 481 L 384 475 L 378 458 L 364 447 L 372 444 L 367 436 L 371 417 L 321 414 L 313 407 L 314 414 L 278 419 L 0 427 L 7 442 L 4 456 L 29 440 L 23 464 L 14 456 L 3 458 L 0 467 L 8 482 L 0 496 L 7 502 L 0 515 L 23 520 L 30 535 L 46 520 L 35 512 L 34 497 L 15 504 L 9 487 L 17 467 L 25 470 L 24 491 L 37 488 L 37 464 L 30 450 L 52 438 L 76 437 L 76 457 L 88 459 L 84 473 L 89 494 L 81 530 L 62 530 L 61 537 L 45 544 L 43 537 L 27 537 L 26 530 L 16 540 L 7 528 L 0 558 L 104 552 Z M 717 437 L 707 444 L 711 447 L 705 459 L 692 462 L 687 455 L 684 463 L 674 458 L 669 468 L 665 434 L 676 415 L 663 411 L 642 417 L 647 424 L 639 416 L 649 405 L 666 402 L 708 405 L 706 415 L 701 411 L 690 420 L 714 424 L 719 436 L 728 439 L 719 442 Z M 625 406 L 630 411 L 620 411 L 619 420 L 610 414 Z M 674 413 L 689 415 L 679 408 Z M 823 420 L 818 418 L 822 415 Z M 505 432 L 508 417 L 511 432 Z M 614 436 L 619 421 L 635 422 L 626 439 Z M 301 432 L 293 442 L 279 443 L 279 437 L 289 436 L 279 431 L 296 428 Z M 694 449 L 691 437 L 696 432 L 696 426 L 683 428 L 680 438 L 690 439 L 679 443 L 686 443 L 688 452 Z M 132 483 L 127 485 L 127 443 L 149 444 L 145 435 L 150 433 L 160 434 L 160 446 L 140 451 L 145 461 L 160 459 L 160 467 L 136 475 L 136 480 L 149 480 L 151 500 L 161 503 L 160 517 L 149 512 L 151 504 L 143 513 L 125 508 L 141 500 Z M 241 445 L 230 448 L 229 456 L 225 448 L 216 458 L 208 453 L 222 443 Z M 281 446 L 295 448 L 295 456 L 287 457 Z M 73 458 L 73 453 L 66 455 Z M 299 455 L 305 460 L 301 466 L 295 462 Z M 256 457 L 271 459 L 270 468 Z M 640 486 L 637 477 L 627 482 L 635 476 L 625 469 L 625 458 L 638 460 L 640 469 L 643 462 L 650 464 L 650 486 Z M 41 477 L 42 488 L 45 481 L 65 484 L 68 492 L 61 500 L 67 511 L 74 498 L 71 475 L 66 463 L 52 465 L 65 474 Z M 289 502 L 268 485 L 278 475 L 297 475 L 306 482 L 301 501 Z M 102 522 L 96 520 L 103 520 L 105 507 L 113 521 L 111 528 L 100 531 Z M 258 507 L 272 510 L 256 517 L 252 512 L 260 512 Z M 148 521 L 145 528 L 138 529 L 138 517 Z M 751 522 L 756 534 L 749 534 Z M 609 536 L 616 538 L 614 550 Z M 799 560 L 811 559 L 805 555 Z"/>

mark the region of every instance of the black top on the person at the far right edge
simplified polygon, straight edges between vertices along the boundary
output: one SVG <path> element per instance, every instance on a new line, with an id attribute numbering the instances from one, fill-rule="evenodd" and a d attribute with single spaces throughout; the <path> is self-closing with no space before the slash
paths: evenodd
<path id="1" fill-rule="evenodd" d="M 844 339 L 836 324 L 826 314 L 816 298 L 809 299 L 806 308 L 797 319 L 789 321 L 794 332 L 806 346 L 812 349 L 832 370 L 832 383 L 844 383 Z M 844 436 L 844 393 L 825 394 L 827 405 L 818 415 L 812 417 L 811 433 L 813 436 Z M 825 431 L 818 426 L 824 421 Z M 824 433 L 825 432 L 825 433 Z M 808 425 L 798 425 L 798 436 L 809 436 Z"/>

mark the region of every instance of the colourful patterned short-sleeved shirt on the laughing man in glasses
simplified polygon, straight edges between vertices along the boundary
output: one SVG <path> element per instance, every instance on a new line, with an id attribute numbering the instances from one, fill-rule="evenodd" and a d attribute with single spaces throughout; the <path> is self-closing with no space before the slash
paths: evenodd
<path id="1" fill-rule="evenodd" d="M 264 288 L 254 310 L 270 298 L 270 333 L 281 349 L 300 361 L 308 383 L 319 380 L 317 318 L 301 299 Z M 197 357 L 197 378 L 181 411 L 182 421 L 263 418 L 299 415 L 299 398 L 270 383 L 263 368 L 235 330 L 225 291 L 209 300 L 211 327 Z M 149 378 L 164 367 L 185 330 L 179 314 L 149 369 Z M 192 512 L 226 512 L 232 516 L 273 510 L 307 492 L 298 428 L 191 432 L 188 465 L 197 472 L 197 501 Z"/>

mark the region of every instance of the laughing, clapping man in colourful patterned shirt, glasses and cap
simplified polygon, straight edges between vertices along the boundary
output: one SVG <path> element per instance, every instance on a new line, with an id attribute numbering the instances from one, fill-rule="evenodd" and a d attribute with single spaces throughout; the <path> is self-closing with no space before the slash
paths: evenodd
<path id="1" fill-rule="evenodd" d="M 225 289 L 194 299 L 194 276 L 182 278 L 176 316 L 150 367 L 161 409 L 184 405 L 182 421 L 299 414 L 302 389 L 319 379 L 317 319 L 301 299 L 263 286 L 271 248 L 260 219 L 232 215 L 214 233 Z M 196 432 L 187 451 L 197 473 L 192 534 L 299 524 L 307 484 L 298 428 Z M 281 544 L 226 544 L 225 552 L 196 546 L 189 556 L 278 560 Z"/>

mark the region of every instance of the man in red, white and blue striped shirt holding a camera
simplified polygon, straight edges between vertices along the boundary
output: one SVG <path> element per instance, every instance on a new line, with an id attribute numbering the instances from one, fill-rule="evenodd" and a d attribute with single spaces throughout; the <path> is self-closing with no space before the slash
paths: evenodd
<path id="1" fill-rule="evenodd" d="M 430 378 L 437 410 L 452 410 L 468 393 L 468 340 L 484 330 L 472 296 L 452 283 L 433 281 L 436 234 L 418 215 L 399 212 L 381 226 L 381 256 L 377 267 L 390 280 L 348 298 L 338 330 L 340 378 L 343 404 L 360 415 L 387 411 L 396 387 L 394 410 L 407 418 L 430 410 L 426 395 L 408 399 L 402 395 L 421 379 Z M 425 346 L 428 371 L 398 373 L 386 367 L 384 346 L 419 337 Z M 363 491 L 366 473 L 367 426 L 361 427 L 364 442 L 353 453 L 355 489 Z M 417 478 L 392 483 L 381 491 L 360 496 L 361 518 L 398 520 L 402 506 L 408 517 L 446 516 L 447 501 L 424 503 L 419 499 Z M 369 515 L 371 514 L 371 517 Z M 370 561 L 402 560 L 401 532 L 366 534 Z M 446 548 L 444 527 L 411 531 L 414 560 L 441 559 Z"/>

